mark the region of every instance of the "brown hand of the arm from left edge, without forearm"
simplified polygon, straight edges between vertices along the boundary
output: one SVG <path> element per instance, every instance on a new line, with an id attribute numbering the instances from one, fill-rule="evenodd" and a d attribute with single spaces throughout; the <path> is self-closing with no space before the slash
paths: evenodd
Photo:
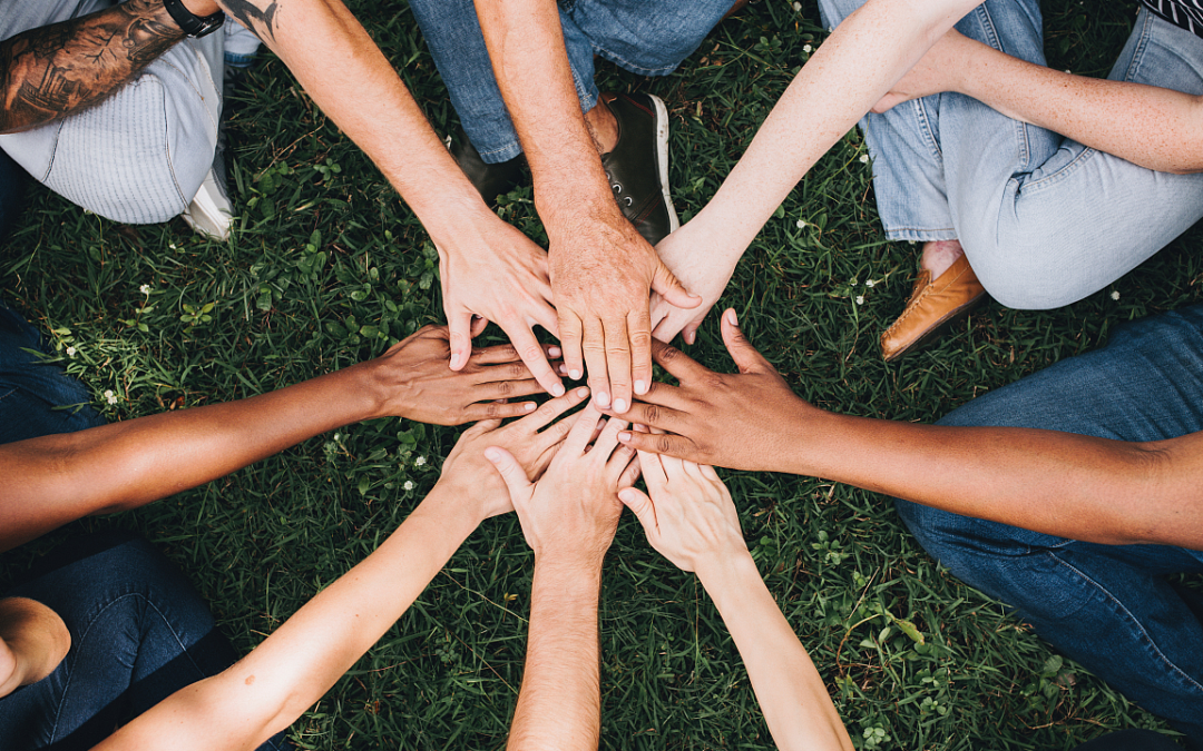
<path id="1" fill-rule="evenodd" d="M 550 357 L 559 354 L 556 346 L 541 351 Z M 380 357 L 355 368 L 368 375 L 371 387 L 379 394 L 380 416 L 458 425 L 518 417 L 535 409 L 533 401 L 497 401 L 543 391 L 511 345 L 472 350 L 468 363 L 458 371 L 448 369 L 450 356 L 448 329 L 425 326 Z"/>

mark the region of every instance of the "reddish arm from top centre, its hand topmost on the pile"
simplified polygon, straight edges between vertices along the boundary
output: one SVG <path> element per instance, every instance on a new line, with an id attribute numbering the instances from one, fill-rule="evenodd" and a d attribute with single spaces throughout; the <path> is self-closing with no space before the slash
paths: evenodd
<path id="1" fill-rule="evenodd" d="M 534 175 L 564 363 L 620 412 L 652 382 L 648 292 L 692 298 L 622 215 L 581 114 L 553 0 L 476 0 L 493 71 Z"/>

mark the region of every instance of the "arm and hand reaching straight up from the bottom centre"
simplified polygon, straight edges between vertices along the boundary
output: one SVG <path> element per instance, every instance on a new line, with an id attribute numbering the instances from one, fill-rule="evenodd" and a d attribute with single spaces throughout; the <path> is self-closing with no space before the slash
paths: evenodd
<path id="1" fill-rule="evenodd" d="M 490 448 L 486 454 L 505 479 L 534 549 L 526 669 L 506 745 L 512 751 L 598 747 L 602 560 L 622 514 L 618 489 L 639 472 L 634 452 L 618 443 L 626 422 L 611 418 L 589 446 L 599 417 L 593 405 L 576 416 L 534 484 L 508 452 Z"/>

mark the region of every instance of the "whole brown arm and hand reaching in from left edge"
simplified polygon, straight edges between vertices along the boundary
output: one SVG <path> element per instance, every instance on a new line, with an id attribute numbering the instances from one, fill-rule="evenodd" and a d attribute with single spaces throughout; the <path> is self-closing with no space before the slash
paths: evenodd
<path id="1" fill-rule="evenodd" d="M 539 392 L 512 347 L 446 368 L 446 329 L 426 327 L 381 357 L 275 392 L 0 446 L 0 549 L 84 515 L 136 508 L 326 430 L 384 416 L 458 424 L 512 417 Z"/>

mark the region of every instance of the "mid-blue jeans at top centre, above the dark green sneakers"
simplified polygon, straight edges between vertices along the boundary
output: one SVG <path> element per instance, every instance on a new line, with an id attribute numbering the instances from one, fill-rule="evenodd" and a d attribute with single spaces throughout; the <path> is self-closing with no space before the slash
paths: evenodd
<path id="1" fill-rule="evenodd" d="M 668 76 L 735 0 L 561 0 L 559 24 L 581 111 L 597 105 L 593 55 L 640 76 Z M 472 0 L 410 0 L 451 105 L 486 163 L 522 153 L 493 77 Z"/>

